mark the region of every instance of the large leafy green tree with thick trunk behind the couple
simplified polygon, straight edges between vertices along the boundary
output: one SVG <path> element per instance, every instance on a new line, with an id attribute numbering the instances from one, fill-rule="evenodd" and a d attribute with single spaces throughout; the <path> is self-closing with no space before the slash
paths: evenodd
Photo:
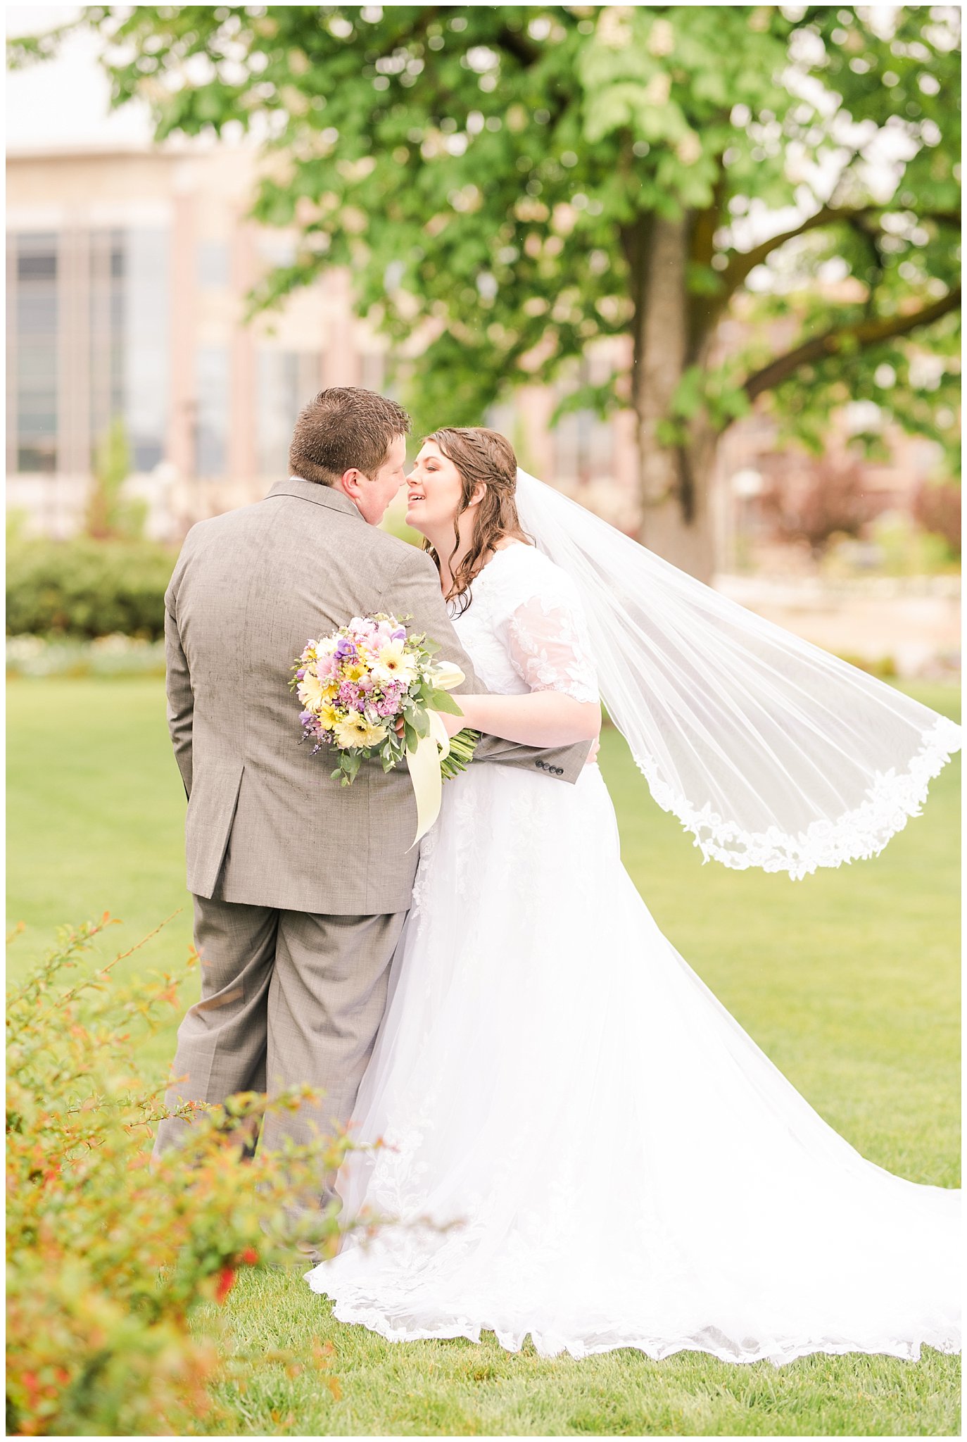
<path id="1" fill-rule="evenodd" d="M 716 441 L 761 397 L 813 446 L 847 398 L 953 435 L 954 7 L 135 6 L 85 23 L 111 42 L 114 102 L 147 95 L 159 138 L 264 137 L 254 213 L 303 247 L 257 304 L 352 265 L 360 311 L 401 349 L 425 337 L 419 414 L 478 421 L 625 337 L 627 368 L 571 404 L 634 408 L 643 539 L 699 575 Z M 735 314 L 748 343 L 726 358 Z"/>

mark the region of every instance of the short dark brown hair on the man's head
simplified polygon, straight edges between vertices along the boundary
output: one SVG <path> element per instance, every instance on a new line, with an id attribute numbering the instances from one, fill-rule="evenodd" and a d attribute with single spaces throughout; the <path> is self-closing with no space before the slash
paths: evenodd
<path id="1" fill-rule="evenodd" d="M 356 385 L 330 385 L 300 412 L 288 448 L 290 476 L 334 486 L 347 470 L 373 476 L 398 435 L 409 434 L 402 405 Z"/>

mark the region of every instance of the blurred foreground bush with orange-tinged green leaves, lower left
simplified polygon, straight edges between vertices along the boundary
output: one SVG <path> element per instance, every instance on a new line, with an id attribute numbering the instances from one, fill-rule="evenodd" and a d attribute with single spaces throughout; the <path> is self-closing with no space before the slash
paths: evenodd
<path id="1" fill-rule="evenodd" d="M 154 1169 L 154 1123 L 170 1115 L 138 1047 L 180 978 L 130 988 L 108 972 L 63 972 L 111 919 L 68 932 L 7 1001 L 7 1435 L 184 1435 L 218 1430 L 215 1387 L 281 1364 L 326 1370 L 301 1353 L 235 1347 L 218 1308 L 239 1268 L 291 1263 L 293 1243 L 334 1250 L 333 1214 L 301 1213 L 300 1188 L 349 1148 L 318 1141 L 242 1164 L 267 1109 L 231 1099 L 193 1119 L 190 1141 Z M 271 1105 L 295 1109 L 307 1090 Z M 177 1115 L 197 1105 L 187 1103 Z M 334 1379 L 323 1376 L 323 1386 Z"/>

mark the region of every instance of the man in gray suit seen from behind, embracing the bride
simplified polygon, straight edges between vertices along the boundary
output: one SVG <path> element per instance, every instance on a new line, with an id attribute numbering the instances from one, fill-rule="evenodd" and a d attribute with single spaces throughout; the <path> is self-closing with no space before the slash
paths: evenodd
<path id="1" fill-rule="evenodd" d="M 295 423 L 288 480 L 193 526 L 164 597 L 202 959 L 202 999 L 179 1027 L 167 1100 L 220 1103 L 301 1083 L 324 1092 L 320 1106 L 265 1118 L 269 1148 L 349 1120 L 418 859 L 405 769 L 363 764 L 340 786 L 326 756 L 298 744 L 293 659 L 307 637 L 388 611 L 440 642 L 465 672 L 458 689 L 483 689 L 432 561 L 378 529 L 405 479 L 408 431 L 406 412 L 372 391 L 323 391 Z M 484 737 L 477 760 L 536 767 L 553 786 L 578 777 L 587 751 Z M 156 1156 L 186 1126 L 161 1122 Z"/>

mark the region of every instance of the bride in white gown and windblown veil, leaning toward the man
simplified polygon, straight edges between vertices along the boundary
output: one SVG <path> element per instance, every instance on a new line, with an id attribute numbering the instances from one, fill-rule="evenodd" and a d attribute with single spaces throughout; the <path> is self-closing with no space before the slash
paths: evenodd
<path id="1" fill-rule="evenodd" d="M 406 519 L 490 692 L 454 728 L 591 738 L 600 678 L 706 858 L 801 877 L 873 855 L 958 746 L 519 473 L 494 431 L 431 435 Z M 624 871 L 597 764 L 444 787 L 353 1135 L 386 1145 L 350 1156 L 344 1207 L 402 1224 L 307 1276 L 392 1341 L 775 1364 L 960 1347 L 958 1193 L 865 1161 L 719 1005 Z"/>

